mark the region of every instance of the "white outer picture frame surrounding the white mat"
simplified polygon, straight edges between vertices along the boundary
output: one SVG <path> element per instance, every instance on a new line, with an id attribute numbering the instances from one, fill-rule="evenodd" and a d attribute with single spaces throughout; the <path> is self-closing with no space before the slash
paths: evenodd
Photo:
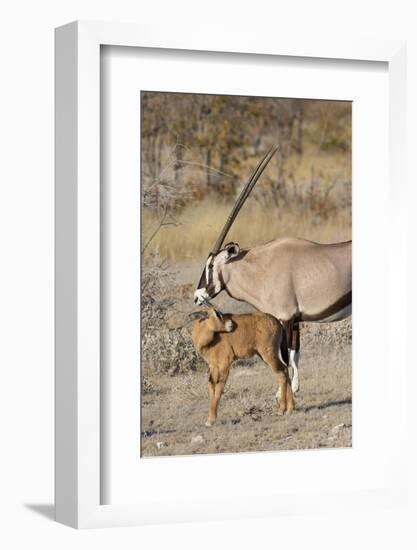
<path id="1" fill-rule="evenodd" d="M 382 61 L 389 70 L 390 189 L 395 198 L 389 253 L 390 315 L 405 317 L 405 295 L 393 301 L 393 288 L 405 280 L 404 251 L 394 239 L 404 232 L 401 189 L 405 151 L 405 44 L 388 41 L 312 42 L 290 44 L 261 33 L 195 29 L 179 36 L 168 27 L 75 22 L 56 30 L 56 519 L 67 525 L 103 527 L 176 521 L 245 517 L 236 499 L 200 506 L 184 517 L 175 497 L 163 510 L 134 504 L 101 504 L 100 474 L 100 47 L 102 45 L 266 54 L 302 58 Z M 397 317 L 398 318 L 398 317 Z M 405 379 L 405 349 L 395 343 L 399 376 Z M 402 382 L 403 383 L 403 382 Z M 405 416 L 405 408 L 400 415 Z M 381 490 L 356 494 L 294 495 L 293 508 L 315 511 L 386 505 L 404 495 L 406 462 L 403 434 L 390 457 L 392 471 Z M 395 467 L 394 467 L 395 462 Z M 255 515 L 287 513 L 285 503 L 266 503 Z M 272 504 L 272 505 L 271 505 Z M 232 512 L 222 516 L 222 508 Z"/>

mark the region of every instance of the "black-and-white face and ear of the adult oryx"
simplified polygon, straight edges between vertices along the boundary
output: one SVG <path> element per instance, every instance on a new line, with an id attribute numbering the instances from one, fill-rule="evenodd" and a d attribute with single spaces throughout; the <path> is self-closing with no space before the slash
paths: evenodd
<path id="1" fill-rule="evenodd" d="M 217 254 L 209 254 L 198 287 L 194 292 L 194 303 L 201 305 L 204 300 L 214 298 L 224 288 L 221 268 L 240 253 L 239 245 L 228 243 Z"/>

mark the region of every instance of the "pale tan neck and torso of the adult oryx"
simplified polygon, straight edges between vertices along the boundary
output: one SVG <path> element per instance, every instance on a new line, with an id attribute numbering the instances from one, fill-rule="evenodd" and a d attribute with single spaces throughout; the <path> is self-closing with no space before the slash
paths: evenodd
<path id="1" fill-rule="evenodd" d="M 278 239 L 219 262 L 218 276 L 233 298 L 281 321 L 322 321 L 352 291 L 352 242 Z"/>

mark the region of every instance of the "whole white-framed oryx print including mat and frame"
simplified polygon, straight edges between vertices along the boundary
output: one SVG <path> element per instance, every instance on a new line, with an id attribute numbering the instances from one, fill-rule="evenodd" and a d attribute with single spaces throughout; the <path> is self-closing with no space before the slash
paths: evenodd
<path id="1" fill-rule="evenodd" d="M 404 79 L 401 43 L 57 29 L 58 521 L 399 501 Z"/>

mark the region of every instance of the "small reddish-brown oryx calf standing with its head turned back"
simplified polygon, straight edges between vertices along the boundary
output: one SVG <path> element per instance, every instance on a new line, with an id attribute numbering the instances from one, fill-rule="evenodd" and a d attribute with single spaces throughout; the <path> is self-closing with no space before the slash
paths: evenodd
<path id="1" fill-rule="evenodd" d="M 238 358 L 258 354 L 277 375 L 281 399 L 278 414 L 287 409 L 292 412 L 294 399 L 287 367 L 282 362 L 279 349 L 284 337 L 280 323 L 271 315 L 253 313 L 244 315 L 216 315 L 214 308 L 207 308 L 208 318 L 196 321 L 192 339 L 199 355 L 209 366 L 209 415 L 206 426 L 212 426 L 230 367 Z M 231 329 L 231 332 L 228 332 Z"/>

